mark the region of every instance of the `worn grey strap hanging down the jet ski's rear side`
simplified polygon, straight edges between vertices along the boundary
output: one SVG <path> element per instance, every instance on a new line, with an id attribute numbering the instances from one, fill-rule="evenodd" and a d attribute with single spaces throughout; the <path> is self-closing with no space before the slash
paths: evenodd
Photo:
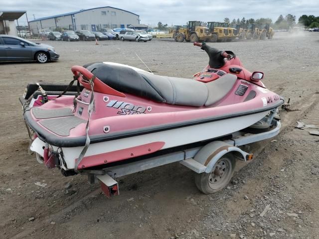
<path id="1" fill-rule="evenodd" d="M 89 103 L 89 107 L 88 107 L 88 121 L 86 122 L 86 126 L 85 126 L 86 140 L 85 140 L 84 148 L 82 149 L 79 157 L 77 159 L 75 159 L 75 167 L 74 167 L 75 172 L 79 172 L 78 166 L 79 166 L 81 160 L 83 159 L 86 151 L 88 150 L 90 142 L 91 142 L 90 137 L 89 137 L 89 122 L 90 122 L 90 118 L 92 115 L 92 111 L 95 112 L 94 91 L 93 91 L 94 80 L 95 80 L 95 76 L 93 76 L 91 79 L 88 80 L 90 83 L 90 86 L 91 86 L 91 98 L 90 98 L 90 103 Z"/>

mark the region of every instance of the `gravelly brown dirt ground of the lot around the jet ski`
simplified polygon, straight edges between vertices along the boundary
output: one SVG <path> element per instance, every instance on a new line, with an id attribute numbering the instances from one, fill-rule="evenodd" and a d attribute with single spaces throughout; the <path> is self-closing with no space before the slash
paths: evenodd
<path id="1" fill-rule="evenodd" d="M 258 156 L 227 188 L 201 194 L 194 173 L 174 163 L 122 178 L 120 195 L 110 199 L 85 176 L 64 177 L 27 153 L 18 102 L 26 84 L 68 83 L 71 66 L 96 61 L 145 69 L 135 53 L 156 74 L 191 78 L 208 57 L 191 43 L 157 39 L 44 43 L 55 47 L 60 60 L 0 64 L 0 238 L 319 238 L 319 136 L 295 128 L 297 120 L 319 126 L 319 33 L 209 43 L 234 51 L 248 70 L 263 71 L 264 84 L 292 103 L 291 111 L 281 112 L 281 133 L 249 145 Z"/>

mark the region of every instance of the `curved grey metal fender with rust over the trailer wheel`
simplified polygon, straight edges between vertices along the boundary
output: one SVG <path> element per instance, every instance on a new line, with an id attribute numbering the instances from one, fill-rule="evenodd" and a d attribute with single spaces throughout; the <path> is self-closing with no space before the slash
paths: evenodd
<path id="1" fill-rule="evenodd" d="M 214 141 L 202 147 L 196 153 L 194 160 L 206 166 L 205 172 L 210 173 L 218 159 L 229 152 L 235 153 L 237 158 L 238 156 L 242 156 L 240 159 L 243 161 L 246 161 L 247 155 L 249 155 L 249 153 L 241 150 L 238 147 L 230 145 L 229 143 L 223 141 Z"/>

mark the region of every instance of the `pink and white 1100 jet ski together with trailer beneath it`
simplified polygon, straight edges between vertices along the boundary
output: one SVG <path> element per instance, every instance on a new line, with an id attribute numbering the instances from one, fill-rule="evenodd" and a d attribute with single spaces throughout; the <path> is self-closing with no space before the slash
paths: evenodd
<path id="1" fill-rule="evenodd" d="M 231 151 L 251 159 L 237 146 L 276 135 L 280 124 L 274 115 L 284 100 L 264 86 L 262 72 L 246 70 L 233 52 L 194 45 L 209 56 L 209 65 L 194 79 L 104 62 L 73 66 L 68 86 L 29 84 L 20 101 L 30 150 L 65 176 L 100 179 L 109 195 L 118 193 L 116 177 L 173 161 L 204 173 L 196 181 L 202 192 L 220 190 L 231 178 L 236 154 L 228 163 L 218 160 Z M 256 123 L 266 125 L 264 136 L 239 143 L 238 132 Z M 276 132 L 267 133 L 273 125 Z M 180 158 L 167 159 L 174 153 Z M 218 184 L 212 186 L 214 178 Z"/>

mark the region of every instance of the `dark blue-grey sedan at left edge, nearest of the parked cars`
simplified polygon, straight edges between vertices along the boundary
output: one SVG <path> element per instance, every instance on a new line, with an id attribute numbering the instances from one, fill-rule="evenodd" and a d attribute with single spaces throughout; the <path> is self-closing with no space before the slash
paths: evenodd
<path id="1" fill-rule="evenodd" d="M 53 46 L 34 43 L 17 36 L 0 35 L 0 61 L 46 63 L 49 60 L 58 60 L 59 56 Z"/>

